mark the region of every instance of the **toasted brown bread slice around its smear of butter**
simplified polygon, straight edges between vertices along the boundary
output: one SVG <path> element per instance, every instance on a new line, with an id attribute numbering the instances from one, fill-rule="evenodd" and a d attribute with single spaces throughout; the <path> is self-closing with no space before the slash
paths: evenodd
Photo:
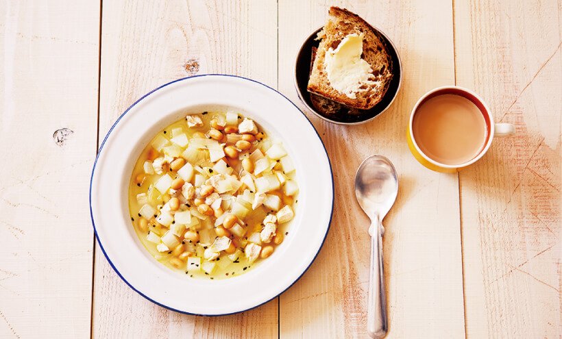
<path id="1" fill-rule="evenodd" d="M 368 83 L 361 84 L 354 93 L 355 99 L 330 85 L 325 66 L 328 49 L 336 50 L 340 42 L 350 34 L 363 35 L 361 58 L 372 70 Z M 330 8 L 328 22 L 318 36 L 321 42 L 308 79 L 308 91 L 359 110 L 373 108 L 384 97 L 392 79 L 392 60 L 384 38 L 363 18 L 337 7 Z"/>

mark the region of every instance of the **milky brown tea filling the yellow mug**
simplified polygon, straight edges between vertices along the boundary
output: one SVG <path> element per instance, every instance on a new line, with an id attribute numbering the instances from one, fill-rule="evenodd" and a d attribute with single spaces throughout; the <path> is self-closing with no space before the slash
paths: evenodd
<path id="1" fill-rule="evenodd" d="M 476 158 L 487 141 L 487 123 L 469 99 L 443 94 L 417 108 L 413 136 L 429 158 L 458 165 Z"/>

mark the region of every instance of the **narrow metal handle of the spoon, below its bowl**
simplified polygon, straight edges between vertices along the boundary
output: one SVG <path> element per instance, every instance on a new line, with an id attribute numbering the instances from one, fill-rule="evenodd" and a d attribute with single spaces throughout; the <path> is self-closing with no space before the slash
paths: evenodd
<path id="1" fill-rule="evenodd" d="M 367 302 L 367 333 L 371 338 L 384 338 L 389 328 L 387 318 L 387 293 L 384 288 L 382 265 L 382 223 L 378 216 L 371 221 L 371 271 L 369 274 L 369 300 Z"/>

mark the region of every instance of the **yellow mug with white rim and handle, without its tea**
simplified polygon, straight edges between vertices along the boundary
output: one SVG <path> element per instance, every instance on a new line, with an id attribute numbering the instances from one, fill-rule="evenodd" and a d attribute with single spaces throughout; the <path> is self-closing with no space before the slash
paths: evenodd
<path id="1" fill-rule="evenodd" d="M 441 162 L 428 157 L 428 155 L 426 155 L 419 148 L 419 145 L 417 145 L 415 136 L 413 134 L 414 116 L 416 115 L 419 106 L 426 103 L 426 101 L 428 101 L 429 99 L 438 97 L 440 95 L 459 95 L 461 97 L 464 97 L 465 99 L 472 101 L 472 103 L 474 103 L 474 105 L 478 107 L 478 110 L 480 110 L 482 116 L 484 116 L 484 121 L 486 122 L 487 127 L 487 136 L 482 149 L 480 149 L 480 152 L 478 152 L 478 154 L 474 158 L 472 158 L 472 160 L 463 162 L 462 164 L 442 164 Z M 511 125 L 511 123 L 494 123 L 488 105 L 484 100 L 478 97 L 476 93 L 459 86 L 443 86 L 430 90 L 414 105 L 412 114 L 410 115 L 410 123 L 408 125 L 408 147 L 410 148 L 410 151 L 417 159 L 417 161 L 419 161 L 422 165 L 426 166 L 430 170 L 442 173 L 455 173 L 480 160 L 480 158 L 482 158 L 482 156 L 484 156 L 484 154 L 490 148 L 493 138 L 513 136 L 513 134 L 515 134 L 515 126 Z"/>

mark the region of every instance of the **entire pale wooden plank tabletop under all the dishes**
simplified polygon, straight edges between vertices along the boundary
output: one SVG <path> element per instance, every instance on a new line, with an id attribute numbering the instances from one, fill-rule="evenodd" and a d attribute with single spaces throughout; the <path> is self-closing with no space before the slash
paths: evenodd
<path id="1" fill-rule="evenodd" d="M 321 121 L 293 87 L 295 53 L 330 5 L 382 29 L 402 58 L 398 98 L 364 125 Z M 562 338 L 560 1 L 6 0 L 0 18 L 0 338 L 366 338 L 370 242 L 352 182 L 373 153 L 400 180 L 384 220 L 387 338 Z M 131 290 L 99 249 L 88 205 L 96 151 L 119 115 L 206 73 L 296 103 L 335 184 L 306 274 L 265 305 L 214 318 Z M 517 136 L 459 174 L 434 173 L 408 151 L 408 116 L 452 84 Z"/>

